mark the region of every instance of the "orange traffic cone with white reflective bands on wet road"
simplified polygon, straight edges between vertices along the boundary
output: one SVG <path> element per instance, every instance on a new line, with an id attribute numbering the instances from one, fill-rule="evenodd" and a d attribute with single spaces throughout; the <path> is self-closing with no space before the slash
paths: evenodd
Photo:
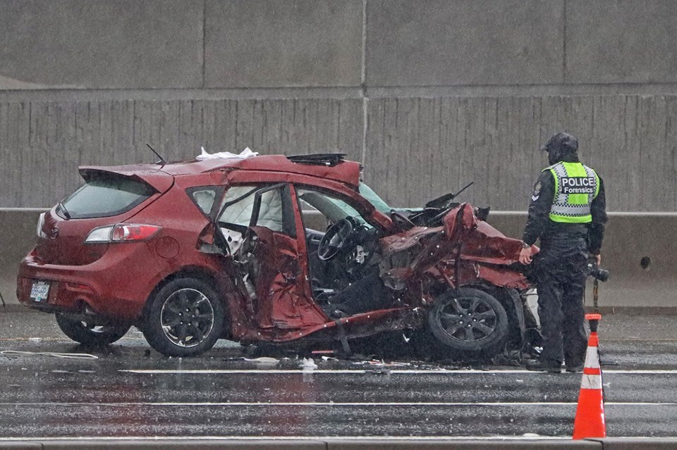
<path id="1" fill-rule="evenodd" d="M 573 439 L 606 437 L 602 369 L 599 368 L 599 354 L 597 353 L 599 346 L 597 323 L 602 315 L 586 314 L 585 318 L 590 322 L 590 339 L 587 341 L 583 380 L 580 382 L 576 418 L 573 421 Z"/>

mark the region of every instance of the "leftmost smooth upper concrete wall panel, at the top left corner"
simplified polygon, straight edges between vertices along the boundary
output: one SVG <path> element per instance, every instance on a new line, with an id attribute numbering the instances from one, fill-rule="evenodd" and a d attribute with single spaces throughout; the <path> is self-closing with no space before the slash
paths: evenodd
<path id="1" fill-rule="evenodd" d="M 6 0 L 0 89 L 200 87 L 201 0 Z"/>

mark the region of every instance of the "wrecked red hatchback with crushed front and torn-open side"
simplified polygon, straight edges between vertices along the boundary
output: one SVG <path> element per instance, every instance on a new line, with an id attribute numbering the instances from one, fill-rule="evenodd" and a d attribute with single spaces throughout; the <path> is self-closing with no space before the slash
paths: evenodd
<path id="1" fill-rule="evenodd" d="M 41 215 L 17 296 L 82 344 L 135 325 L 168 356 L 219 338 L 350 352 L 352 339 L 410 330 L 437 354 L 488 358 L 530 326 L 518 239 L 453 194 L 393 210 L 341 154 L 80 175 Z"/>

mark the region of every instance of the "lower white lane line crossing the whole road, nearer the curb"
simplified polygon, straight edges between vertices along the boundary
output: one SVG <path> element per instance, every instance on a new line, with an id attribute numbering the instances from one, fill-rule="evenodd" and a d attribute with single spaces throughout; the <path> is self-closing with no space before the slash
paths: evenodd
<path id="1" fill-rule="evenodd" d="M 293 402 L 293 401 L 271 401 L 271 402 L 257 402 L 257 401 L 226 401 L 226 402 L 212 402 L 205 401 L 202 403 L 190 402 L 174 402 L 174 401 L 139 401 L 139 402 L 120 402 L 120 403 L 78 403 L 78 402 L 54 402 L 54 403 L 0 403 L 1 406 L 576 406 L 575 401 L 484 401 L 475 403 L 463 403 L 457 401 L 450 402 L 323 402 L 323 401 L 307 401 L 307 402 Z M 604 406 L 677 406 L 677 402 L 657 402 L 650 403 L 646 401 L 632 402 L 632 401 L 606 401 Z"/>

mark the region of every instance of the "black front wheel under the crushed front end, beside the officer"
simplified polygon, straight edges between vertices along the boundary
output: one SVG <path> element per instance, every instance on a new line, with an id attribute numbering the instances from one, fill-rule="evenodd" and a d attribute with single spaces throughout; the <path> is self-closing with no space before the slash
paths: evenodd
<path id="1" fill-rule="evenodd" d="M 493 296 L 463 287 L 435 299 L 428 311 L 428 327 L 451 358 L 488 359 L 506 344 L 508 315 Z"/>

